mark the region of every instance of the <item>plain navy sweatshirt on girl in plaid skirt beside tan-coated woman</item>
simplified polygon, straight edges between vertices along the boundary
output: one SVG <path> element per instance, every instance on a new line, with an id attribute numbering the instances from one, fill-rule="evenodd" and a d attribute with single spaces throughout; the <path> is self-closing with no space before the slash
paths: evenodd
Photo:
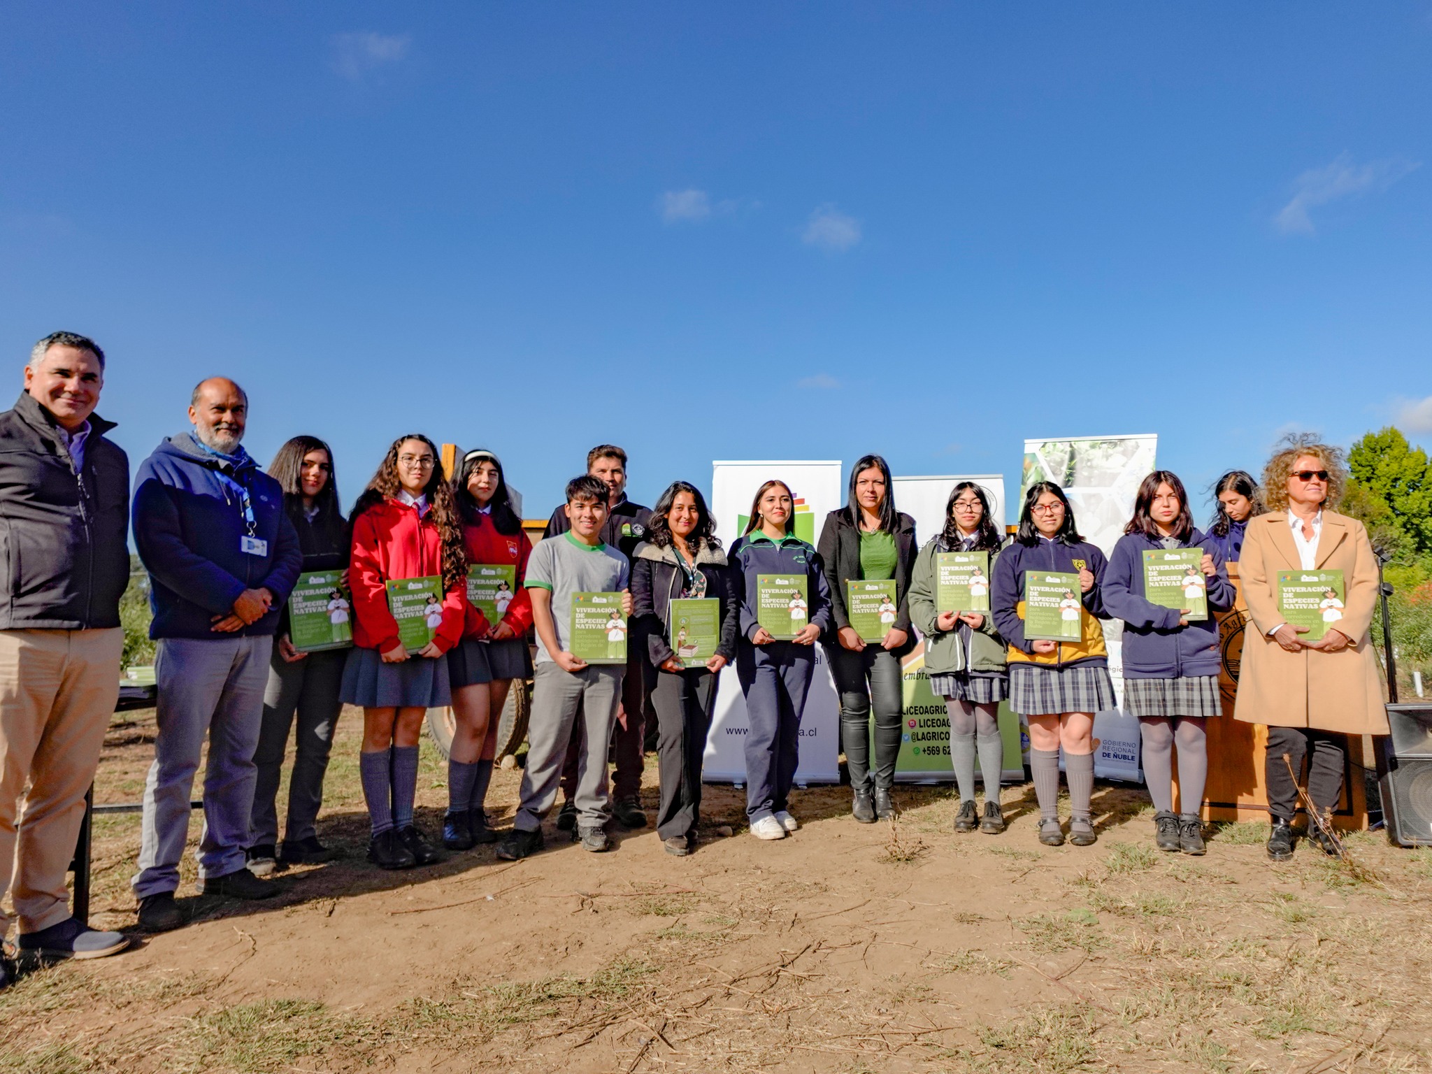
<path id="1" fill-rule="evenodd" d="M 1219 546 L 1199 530 L 1179 547 L 1201 548 L 1213 557 L 1217 574 L 1207 580 L 1209 611 L 1233 607 L 1233 583 L 1223 566 Z M 1118 538 L 1114 554 L 1104 571 L 1104 609 L 1114 619 L 1124 620 L 1124 677 L 1181 679 L 1196 674 L 1217 674 L 1219 620 L 1210 614 L 1189 626 L 1179 626 L 1179 609 L 1150 604 L 1144 600 L 1143 553 L 1163 548 L 1151 537 L 1130 533 Z"/>

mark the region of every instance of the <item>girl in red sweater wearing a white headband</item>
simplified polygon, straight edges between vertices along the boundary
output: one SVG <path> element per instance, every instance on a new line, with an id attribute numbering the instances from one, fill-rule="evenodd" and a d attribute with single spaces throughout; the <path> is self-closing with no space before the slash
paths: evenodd
<path id="1" fill-rule="evenodd" d="M 453 498 L 463 517 L 471 580 L 463 642 L 448 654 L 455 726 L 442 845 L 467 851 L 474 843 L 497 842 L 483 800 L 493 779 L 497 723 L 507 690 L 514 679 L 531 676 L 527 630 L 533 604 L 523 581 L 533 546 L 513 510 L 503 464 L 491 451 L 463 455 L 453 478 Z"/>

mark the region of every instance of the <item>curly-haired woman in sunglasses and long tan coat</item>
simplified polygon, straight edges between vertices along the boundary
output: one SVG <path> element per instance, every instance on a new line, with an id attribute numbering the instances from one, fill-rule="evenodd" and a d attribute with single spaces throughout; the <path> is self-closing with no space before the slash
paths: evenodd
<path id="1" fill-rule="evenodd" d="M 1346 736 L 1386 735 L 1382 676 L 1369 626 L 1378 600 L 1378 557 L 1368 530 L 1336 514 L 1348 484 L 1342 450 L 1313 437 L 1287 437 L 1263 470 L 1269 513 L 1253 518 L 1239 571 L 1253 619 L 1233 719 L 1267 726 L 1267 853 L 1293 853 L 1297 778 L 1307 760 L 1307 796 L 1330 823 L 1342 795 Z M 1310 640 L 1279 611 L 1279 571 L 1342 571 L 1342 617 Z M 1309 819 L 1326 853 L 1336 843 Z"/>

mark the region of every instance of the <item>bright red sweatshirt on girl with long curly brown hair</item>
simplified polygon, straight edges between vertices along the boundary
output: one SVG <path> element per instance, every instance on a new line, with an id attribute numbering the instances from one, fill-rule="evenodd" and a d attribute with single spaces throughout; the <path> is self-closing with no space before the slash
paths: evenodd
<path id="1" fill-rule="evenodd" d="M 354 644 L 379 653 L 402 644 L 384 583 L 430 574 L 442 574 L 442 537 L 431 514 L 418 518 L 417 507 L 388 498 L 354 518 L 348 573 L 354 593 Z M 465 587 L 442 594 L 442 626 L 432 640 L 444 653 L 463 636 L 465 609 Z"/>

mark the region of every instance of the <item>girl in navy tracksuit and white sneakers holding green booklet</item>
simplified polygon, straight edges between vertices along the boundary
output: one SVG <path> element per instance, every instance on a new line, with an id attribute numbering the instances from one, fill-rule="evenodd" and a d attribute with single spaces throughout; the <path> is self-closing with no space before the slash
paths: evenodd
<path id="1" fill-rule="evenodd" d="M 740 604 L 736 676 L 746 695 L 746 816 L 758 839 L 783 839 L 800 746 L 800 712 L 815 672 L 815 640 L 831 623 L 831 590 L 816 550 L 795 536 L 795 498 L 766 481 L 746 533 L 727 553 Z M 799 617 L 790 594 L 802 597 Z"/>

